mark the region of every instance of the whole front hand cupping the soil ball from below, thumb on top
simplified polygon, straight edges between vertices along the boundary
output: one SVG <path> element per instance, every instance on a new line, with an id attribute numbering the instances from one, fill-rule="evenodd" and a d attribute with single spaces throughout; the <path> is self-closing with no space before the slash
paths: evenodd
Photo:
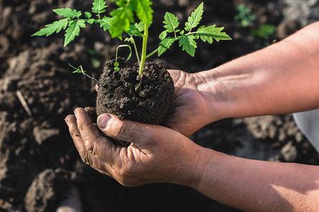
<path id="1" fill-rule="evenodd" d="M 86 110 L 77 108 L 74 114 L 67 116 L 66 122 L 79 155 L 104 175 L 128 187 L 155 182 L 198 183 L 203 148 L 177 131 L 101 114 L 99 129 L 114 139 L 130 142 L 125 148 L 101 136 Z"/>

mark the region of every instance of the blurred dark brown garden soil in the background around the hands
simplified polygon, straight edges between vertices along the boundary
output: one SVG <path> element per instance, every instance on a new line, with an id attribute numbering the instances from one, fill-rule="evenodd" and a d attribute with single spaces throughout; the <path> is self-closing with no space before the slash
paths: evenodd
<path id="1" fill-rule="evenodd" d="M 200 2 L 154 1 L 154 23 L 159 25 L 150 30 L 149 51 L 159 42 L 166 11 L 185 22 Z M 232 41 L 198 44 L 194 58 L 175 45 L 160 58 L 165 68 L 193 72 L 211 69 L 271 43 L 272 39 L 254 37 L 250 28 L 234 22 L 238 2 L 243 1 L 204 1 L 202 23 L 225 26 Z M 249 2 L 258 17 L 251 28 L 264 23 L 277 26 L 283 20 L 278 1 Z M 56 20 L 52 9 L 65 6 L 89 11 L 91 2 L 0 1 L 0 211 L 35 211 L 33 206 L 38 211 L 54 210 L 70 185 L 79 188 L 84 211 L 237 211 L 188 187 L 150 184 L 126 188 L 82 163 L 64 118 L 75 107 L 95 105 L 95 85 L 89 78 L 72 74 L 67 63 L 82 64 L 87 73 L 98 78 L 120 42 L 91 26 L 66 48 L 62 47 L 62 34 L 50 39 L 30 37 Z M 26 100 L 30 116 L 17 91 Z M 291 114 L 225 119 L 209 124 L 191 139 L 240 157 L 319 165 L 318 153 L 298 130 Z"/>

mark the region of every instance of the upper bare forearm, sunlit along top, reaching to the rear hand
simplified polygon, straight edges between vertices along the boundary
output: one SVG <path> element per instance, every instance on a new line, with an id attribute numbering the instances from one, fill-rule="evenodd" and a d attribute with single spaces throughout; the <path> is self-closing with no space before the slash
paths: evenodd
<path id="1" fill-rule="evenodd" d="M 282 114 L 319 107 L 319 22 L 286 40 L 196 73 L 212 119 Z M 213 95 L 212 95 L 213 93 Z"/>

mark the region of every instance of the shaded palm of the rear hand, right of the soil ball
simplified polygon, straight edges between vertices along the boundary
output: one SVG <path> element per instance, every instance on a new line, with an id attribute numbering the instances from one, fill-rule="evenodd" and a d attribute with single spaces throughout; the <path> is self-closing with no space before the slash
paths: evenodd
<path id="1" fill-rule="evenodd" d="M 169 70 L 175 87 L 172 107 L 163 125 L 190 136 L 209 124 L 207 100 L 198 91 L 198 75 L 179 70 Z"/>

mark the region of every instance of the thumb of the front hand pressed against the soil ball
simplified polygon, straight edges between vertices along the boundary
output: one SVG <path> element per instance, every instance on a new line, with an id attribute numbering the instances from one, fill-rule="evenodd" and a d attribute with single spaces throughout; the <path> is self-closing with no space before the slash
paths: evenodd
<path id="1" fill-rule="evenodd" d="M 139 143 L 150 137 L 151 126 L 129 120 L 120 120 L 113 114 L 101 114 L 97 119 L 101 131 L 113 139 Z"/>

